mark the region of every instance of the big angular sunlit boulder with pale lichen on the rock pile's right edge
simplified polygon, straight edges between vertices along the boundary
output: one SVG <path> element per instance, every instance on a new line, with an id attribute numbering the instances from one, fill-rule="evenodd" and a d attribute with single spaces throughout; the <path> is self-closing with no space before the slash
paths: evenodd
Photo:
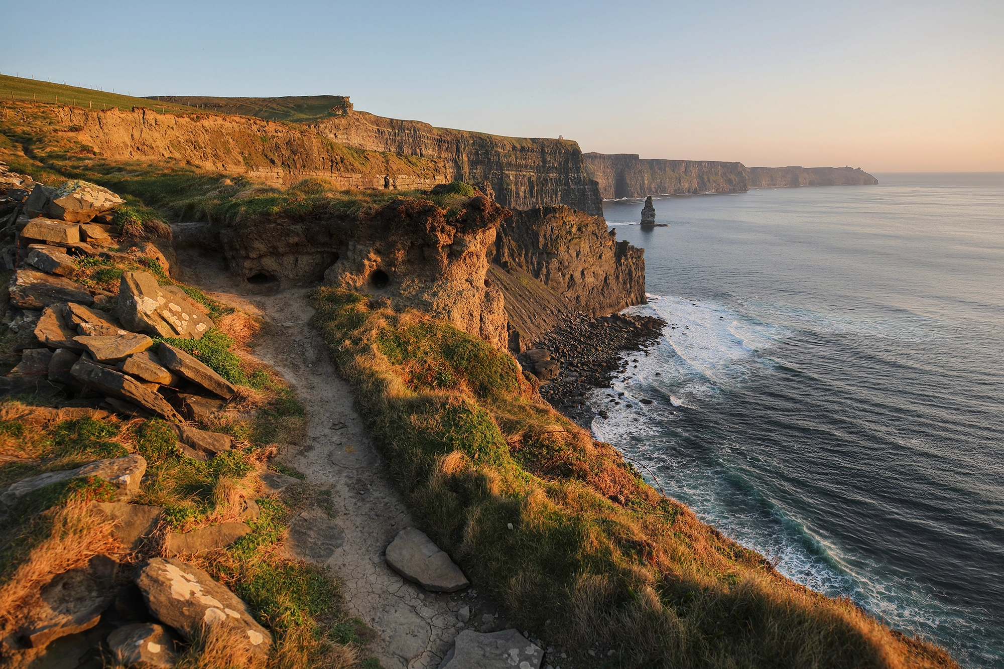
<path id="1" fill-rule="evenodd" d="M 200 340 L 213 326 L 184 290 L 158 285 L 149 272 L 122 272 L 116 315 L 128 329 L 153 337 Z"/>

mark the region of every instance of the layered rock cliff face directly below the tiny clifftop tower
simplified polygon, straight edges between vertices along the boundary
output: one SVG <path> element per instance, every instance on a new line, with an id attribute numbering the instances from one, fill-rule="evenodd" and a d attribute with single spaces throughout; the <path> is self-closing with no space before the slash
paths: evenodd
<path id="1" fill-rule="evenodd" d="M 449 181 L 487 181 L 496 201 L 505 207 L 563 204 L 593 215 L 602 213 L 599 191 L 585 174 L 575 142 L 433 128 L 354 110 L 311 128 L 346 147 L 434 160 L 447 167 Z"/>

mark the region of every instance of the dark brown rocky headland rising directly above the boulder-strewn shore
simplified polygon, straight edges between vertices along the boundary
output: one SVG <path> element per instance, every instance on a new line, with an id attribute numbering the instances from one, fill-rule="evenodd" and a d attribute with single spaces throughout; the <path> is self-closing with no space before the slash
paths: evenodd
<path id="1" fill-rule="evenodd" d="M 513 212 L 499 227 L 497 268 L 493 267 L 510 314 L 510 348 L 524 350 L 566 309 L 606 315 L 645 303 L 644 254 L 644 249 L 616 241 L 614 231 L 607 232 L 600 216 L 564 206 Z M 499 277 L 499 271 L 509 277 Z M 507 289 L 506 284 L 513 281 L 525 290 Z M 531 326 L 514 334 L 511 330 L 519 330 L 521 321 Z"/>

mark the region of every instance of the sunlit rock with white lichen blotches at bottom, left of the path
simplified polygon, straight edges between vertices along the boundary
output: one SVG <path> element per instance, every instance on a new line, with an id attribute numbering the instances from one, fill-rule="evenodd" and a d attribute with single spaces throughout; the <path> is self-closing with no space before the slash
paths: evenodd
<path id="1" fill-rule="evenodd" d="M 272 635 L 240 598 L 202 570 L 174 558 L 153 558 L 139 570 L 136 584 L 151 613 L 186 639 L 203 626 L 225 625 L 246 639 L 249 651 L 268 655 Z"/>

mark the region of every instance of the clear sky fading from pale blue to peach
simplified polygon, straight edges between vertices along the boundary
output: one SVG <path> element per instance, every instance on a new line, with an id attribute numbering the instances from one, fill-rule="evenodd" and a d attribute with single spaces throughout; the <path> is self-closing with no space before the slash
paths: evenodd
<path id="1" fill-rule="evenodd" d="M 1004 0 L 12 3 L 0 72 L 134 95 L 349 95 L 582 151 L 1004 171 Z"/>

